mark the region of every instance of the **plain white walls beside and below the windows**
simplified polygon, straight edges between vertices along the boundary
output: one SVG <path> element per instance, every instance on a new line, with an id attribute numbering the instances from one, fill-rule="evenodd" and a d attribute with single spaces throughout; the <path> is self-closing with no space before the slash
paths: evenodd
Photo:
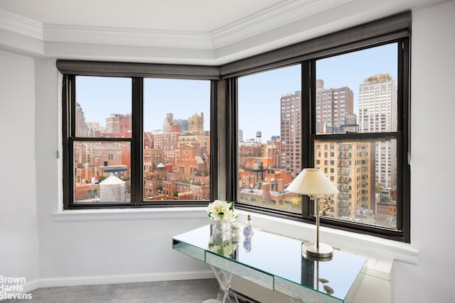
<path id="1" fill-rule="evenodd" d="M 455 1 L 446 1 L 412 16 L 411 231 L 419 258 L 395 262 L 395 302 L 451 302 L 454 13 Z M 0 241 L 9 245 L 1 246 L 0 274 L 39 278 L 41 286 L 207 276 L 205 265 L 171 249 L 171 236 L 207 223 L 203 211 L 182 219 L 52 216 L 61 204 L 55 60 L 33 66 L 31 58 L 0 52 L 0 63 L 0 155 L 9 177 L 1 181 Z"/>

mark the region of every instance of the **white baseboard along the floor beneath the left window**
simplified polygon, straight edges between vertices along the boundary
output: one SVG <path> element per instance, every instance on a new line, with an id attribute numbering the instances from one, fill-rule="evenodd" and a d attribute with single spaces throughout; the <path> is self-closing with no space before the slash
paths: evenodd
<path id="1" fill-rule="evenodd" d="M 154 282 L 169 280 L 194 280 L 213 278 L 213 272 L 210 270 L 198 272 L 159 272 L 150 274 L 137 275 L 98 275 L 85 277 L 50 277 L 27 282 L 23 285 L 24 292 L 30 292 L 37 288 L 44 287 L 62 287 L 77 285 L 101 285 L 116 283 L 134 283 L 134 282 Z"/>

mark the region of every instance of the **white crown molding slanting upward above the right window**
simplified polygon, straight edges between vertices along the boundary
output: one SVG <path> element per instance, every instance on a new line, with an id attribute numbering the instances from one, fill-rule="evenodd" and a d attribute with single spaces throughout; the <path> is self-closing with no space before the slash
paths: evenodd
<path id="1" fill-rule="evenodd" d="M 215 49 L 272 31 L 353 0 L 288 0 L 210 32 Z"/>

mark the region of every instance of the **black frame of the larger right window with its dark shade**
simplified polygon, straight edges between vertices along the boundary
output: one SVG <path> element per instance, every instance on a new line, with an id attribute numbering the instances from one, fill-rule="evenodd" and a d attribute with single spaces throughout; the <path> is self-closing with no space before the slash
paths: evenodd
<path id="1" fill-rule="evenodd" d="M 378 30 L 378 28 L 382 28 Z M 314 142 L 316 140 L 331 141 L 338 139 L 371 140 L 375 138 L 397 139 L 397 228 L 383 228 L 338 219 L 321 218 L 321 225 L 355 233 L 364 233 L 381 238 L 410 243 L 410 34 L 411 13 L 405 12 L 390 16 L 379 21 L 373 21 L 354 28 L 333 33 L 314 40 L 309 40 L 287 48 L 281 48 L 245 60 L 232 62 L 221 67 L 221 75 L 230 84 L 230 92 L 226 95 L 232 102 L 230 133 L 232 142 L 232 161 L 227 178 L 232 181 L 232 195 L 229 199 L 237 201 L 238 197 L 238 140 L 237 136 L 237 79 L 257 72 L 266 72 L 289 65 L 301 65 L 302 113 L 310 113 L 308 119 L 302 117 L 302 168 L 314 167 Z M 357 50 L 373 48 L 388 43 L 397 43 L 397 99 L 398 121 L 397 131 L 390 133 L 352 133 L 346 134 L 316 134 L 316 60 Z M 304 92 L 307 92 L 306 94 Z M 306 120 L 306 123 L 304 121 Z M 229 191 L 228 191 L 229 192 Z M 314 224 L 314 204 L 309 203 L 309 197 L 302 196 L 301 214 L 291 211 L 266 208 L 251 204 L 237 203 L 237 208 L 256 211 L 262 214 L 279 216 Z"/>

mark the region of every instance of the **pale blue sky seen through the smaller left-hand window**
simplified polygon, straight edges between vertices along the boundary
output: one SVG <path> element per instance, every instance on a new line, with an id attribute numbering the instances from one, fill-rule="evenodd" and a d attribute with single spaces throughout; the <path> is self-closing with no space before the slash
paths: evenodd
<path id="1" fill-rule="evenodd" d="M 78 76 L 76 81 L 86 122 L 106 126 L 111 114 L 132 113 L 130 78 Z M 210 130 L 210 81 L 144 79 L 144 131 L 161 130 L 168 113 L 183 120 L 204 113 L 204 130 Z"/>

